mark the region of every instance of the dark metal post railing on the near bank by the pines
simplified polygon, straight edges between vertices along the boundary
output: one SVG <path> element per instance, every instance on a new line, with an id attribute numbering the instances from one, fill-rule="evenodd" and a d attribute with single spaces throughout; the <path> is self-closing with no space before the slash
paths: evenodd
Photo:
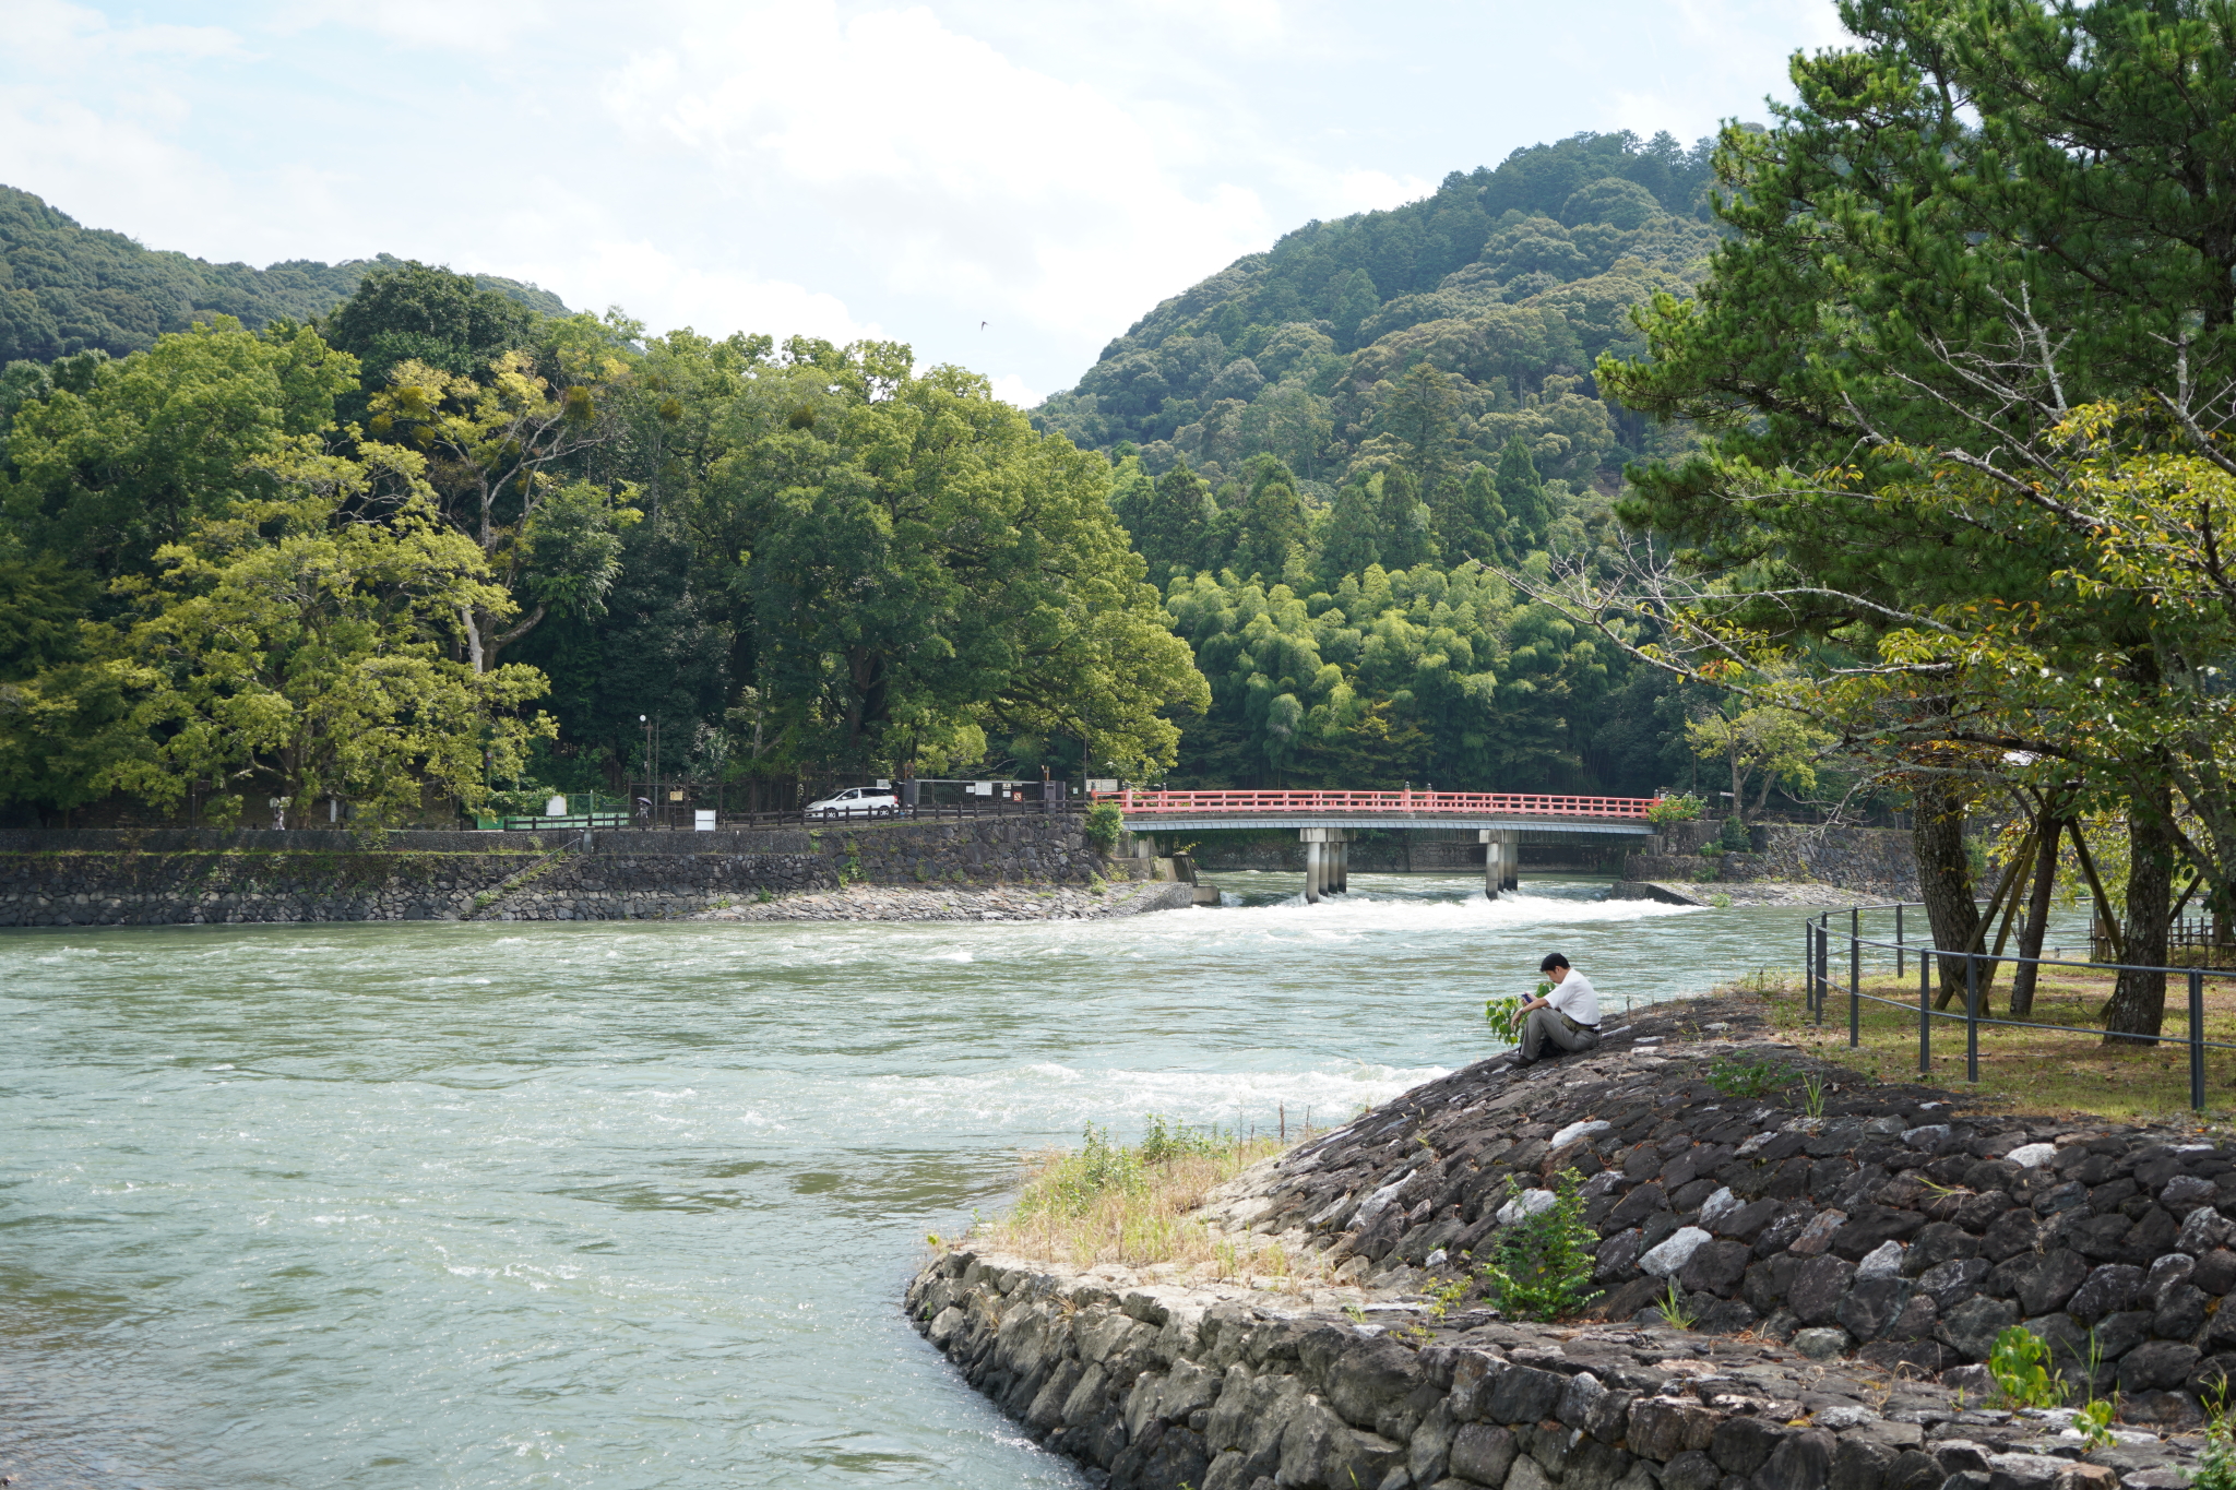
<path id="1" fill-rule="evenodd" d="M 1863 992 L 1863 954 L 1865 947 L 1876 952 L 1894 952 L 1896 978 L 1905 976 L 1905 956 L 1916 954 L 1918 958 L 1918 1072 L 1932 1074 L 1934 1068 L 1934 1021 L 1963 1021 L 1965 1028 L 1965 1081 L 1979 1081 L 1979 1032 L 1981 1028 L 2001 1030 L 2048 1030 L 2050 1034 L 2093 1034 L 2104 1037 L 2111 1030 L 2095 1025 L 2050 1025 L 2033 1019 L 1992 1019 L 1979 1012 L 1979 967 L 1988 963 L 1990 976 L 1997 963 L 2033 965 L 2033 967 L 2075 967 L 2082 972 L 2158 972 L 2169 976 L 2182 976 L 2189 981 L 2189 1010 L 2187 1010 L 2187 1032 L 2182 1039 L 2169 1034 L 2129 1034 L 2117 1032 L 2122 1041 L 2133 1041 L 2138 1045 L 2173 1045 L 2182 1043 L 2189 1048 L 2189 1106 L 2191 1110 L 2205 1110 L 2205 1052 L 2207 1050 L 2236 1050 L 2236 1043 L 2209 1041 L 2205 1039 L 2205 978 L 2232 976 L 2227 972 L 2216 972 L 2209 967 L 2156 967 L 2149 963 L 2075 963 L 2068 958 L 2044 958 L 2044 956 L 2015 956 L 2008 952 L 1948 952 L 1932 943 L 1903 943 L 1903 909 L 1918 907 L 1916 900 L 1896 900 L 1885 905 L 1854 905 L 1849 907 L 1847 927 L 1847 1043 L 1849 1050 L 1863 1043 L 1863 1005 L 1878 1003 L 1892 1010 L 1907 1010 L 1910 1005 L 1896 999 L 1880 999 L 1878 994 Z M 1863 936 L 1863 914 L 1865 911 L 1894 911 L 1894 940 L 1872 940 Z M 1836 990 L 1831 972 L 1831 911 L 1820 911 L 1816 920 L 1802 923 L 1802 956 L 1804 956 L 1804 992 L 1809 1012 L 1818 1025 L 1825 1023 L 1825 1005 L 1831 1001 Z M 1965 965 L 1965 1007 L 1963 1012 L 1936 1010 L 1934 1007 L 1934 961 L 1957 961 L 1963 958 Z"/>

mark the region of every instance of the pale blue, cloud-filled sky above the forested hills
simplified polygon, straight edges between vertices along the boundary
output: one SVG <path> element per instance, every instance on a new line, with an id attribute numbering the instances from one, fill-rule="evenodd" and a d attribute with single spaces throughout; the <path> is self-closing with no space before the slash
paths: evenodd
<path id="1" fill-rule="evenodd" d="M 1764 118 L 1829 0 L 0 0 L 0 183 L 212 261 L 394 252 L 1022 404 L 1310 219 Z"/>

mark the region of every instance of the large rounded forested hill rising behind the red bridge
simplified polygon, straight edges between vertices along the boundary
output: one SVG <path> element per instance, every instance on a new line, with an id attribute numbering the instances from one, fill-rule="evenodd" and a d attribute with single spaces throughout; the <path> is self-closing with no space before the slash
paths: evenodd
<path id="1" fill-rule="evenodd" d="M 1400 380 L 1427 360 L 1453 380 L 1462 462 L 1496 465 L 1518 433 L 1541 476 L 1612 489 L 1657 431 L 1597 395 L 1592 362 L 1635 348 L 1630 306 L 1688 293 L 1715 243 L 1708 141 L 1532 145 L 1237 259 L 1136 322 L 1035 418 L 1082 447 L 1134 442 L 1152 476 L 1185 458 L 1216 480 L 1270 451 L 1310 498 L 1402 453 Z"/>

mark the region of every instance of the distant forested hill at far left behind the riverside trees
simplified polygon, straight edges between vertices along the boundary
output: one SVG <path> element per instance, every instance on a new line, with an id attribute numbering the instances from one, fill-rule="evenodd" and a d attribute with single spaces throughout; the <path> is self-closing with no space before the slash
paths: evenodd
<path id="1" fill-rule="evenodd" d="M 123 357 L 210 315 L 235 315 L 250 328 L 275 317 L 309 319 L 349 299 L 364 270 L 380 264 L 400 259 L 208 264 L 83 228 L 31 192 L 0 185 L 0 364 L 94 348 Z M 541 315 L 568 313 L 557 295 L 532 284 L 474 279 Z"/>

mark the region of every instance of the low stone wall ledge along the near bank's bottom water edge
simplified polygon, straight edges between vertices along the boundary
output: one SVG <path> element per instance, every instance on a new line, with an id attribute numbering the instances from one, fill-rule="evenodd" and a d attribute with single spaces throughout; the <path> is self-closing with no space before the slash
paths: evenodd
<path id="1" fill-rule="evenodd" d="M 2194 1436 L 1666 1325 L 1357 1314 L 1228 1284 L 953 1251 L 926 1338 L 1109 1490 L 2173 1490 Z"/>

